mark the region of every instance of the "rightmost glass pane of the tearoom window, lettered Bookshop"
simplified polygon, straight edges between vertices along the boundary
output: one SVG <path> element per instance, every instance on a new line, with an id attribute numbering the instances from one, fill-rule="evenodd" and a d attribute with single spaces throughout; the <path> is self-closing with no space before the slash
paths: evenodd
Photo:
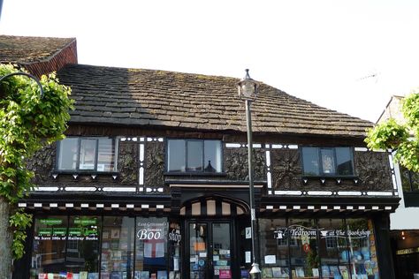
<path id="1" fill-rule="evenodd" d="M 356 278 L 378 278 L 376 241 L 367 219 L 347 219 L 350 268 Z"/>

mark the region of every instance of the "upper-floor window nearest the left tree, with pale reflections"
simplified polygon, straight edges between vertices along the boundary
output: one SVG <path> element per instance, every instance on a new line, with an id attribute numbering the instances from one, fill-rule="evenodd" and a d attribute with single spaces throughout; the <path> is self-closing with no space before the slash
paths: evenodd
<path id="1" fill-rule="evenodd" d="M 57 169 L 116 171 L 116 143 L 111 138 L 66 138 L 58 144 Z"/>

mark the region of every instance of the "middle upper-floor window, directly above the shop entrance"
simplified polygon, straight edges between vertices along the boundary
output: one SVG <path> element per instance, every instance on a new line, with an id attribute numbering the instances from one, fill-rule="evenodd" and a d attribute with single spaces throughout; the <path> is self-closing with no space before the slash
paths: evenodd
<path id="1" fill-rule="evenodd" d="M 167 171 L 221 172 L 221 149 L 220 140 L 168 139 Z"/>

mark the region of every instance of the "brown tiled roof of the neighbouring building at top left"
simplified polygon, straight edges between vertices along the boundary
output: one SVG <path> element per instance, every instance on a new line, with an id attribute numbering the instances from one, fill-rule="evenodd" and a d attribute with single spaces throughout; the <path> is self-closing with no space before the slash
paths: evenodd
<path id="1" fill-rule="evenodd" d="M 32 64 L 50 59 L 75 38 L 0 35 L 0 63 Z"/>

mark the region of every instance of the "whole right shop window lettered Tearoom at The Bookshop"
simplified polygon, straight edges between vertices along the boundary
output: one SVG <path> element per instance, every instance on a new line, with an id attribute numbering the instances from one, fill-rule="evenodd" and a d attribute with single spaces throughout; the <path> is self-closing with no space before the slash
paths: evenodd
<path id="1" fill-rule="evenodd" d="M 379 278 L 370 220 L 260 219 L 259 227 L 262 278 Z"/>

